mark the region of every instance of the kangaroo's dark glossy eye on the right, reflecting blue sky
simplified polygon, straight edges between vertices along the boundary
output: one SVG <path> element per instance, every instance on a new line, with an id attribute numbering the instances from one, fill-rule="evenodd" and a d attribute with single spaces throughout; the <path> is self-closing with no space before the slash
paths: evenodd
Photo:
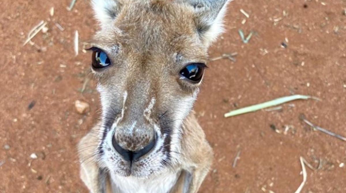
<path id="1" fill-rule="evenodd" d="M 191 82 L 198 83 L 202 80 L 205 67 L 206 65 L 203 63 L 189 64 L 180 71 L 180 75 Z"/>

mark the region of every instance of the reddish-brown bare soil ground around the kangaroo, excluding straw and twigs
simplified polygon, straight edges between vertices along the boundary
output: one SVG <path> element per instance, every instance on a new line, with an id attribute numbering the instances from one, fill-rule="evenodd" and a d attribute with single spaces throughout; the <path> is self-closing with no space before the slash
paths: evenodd
<path id="1" fill-rule="evenodd" d="M 83 94 L 78 91 L 89 77 L 90 54 L 74 56 L 73 36 L 78 30 L 80 41 L 86 41 L 97 26 L 88 1 L 78 1 L 71 12 L 66 10 L 69 3 L 1 2 L 1 193 L 87 192 L 79 179 L 75 146 L 99 117 L 99 100 L 93 81 Z M 201 193 L 292 193 L 302 181 L 300 156 L 314 167 L 321 160 L 318 170 L 307 168 L 302 192 L 346 192 L 346 167 L 339 167 L 346 163 L 346 143 L 313 131 L 298 119 L 304 113 L 316 125 L 346 135 L 346 1 L 321 3 L 238 0 L 229 5 L 227 32 L 210 55 L 238 52 L 237 62 L 223 59 L 209 64 L 195 105 L 215 151 Z M 55 8 L 53 17 L 49 16 L 51 7 Z M 244 25 L 241 8 L 250 15 Z M 283 16 L 283 11 L 288 15 Z M 281 20 L 274 25 L 277 18 Z M 33 42 L 43 49 L 22 46 L 29 30 L 41 20 L 49 20 L 49 31 L 39 33 Z M 256 35 L 244 44 L 238 29 L 245 35 L 253 30 Z M 282 48 L 285 38 L 288 47 Z M 285 104 L 281 111 L 223 117 L 236 106 L 291 94 L 313 95 L 322 101 L 294 101 L 289 103 L 294 107 Z M 75 112 L 75 100 L 90 103 L 88 116 Z M 32 101 L 35 105 L 28 110 Z M 293 127 L 286 135 L 282 133 L 285 126 Z M 233 168 L 238 150 L 240 159 Z M 38 159 L 32 160 L 32 153 Z"/>

